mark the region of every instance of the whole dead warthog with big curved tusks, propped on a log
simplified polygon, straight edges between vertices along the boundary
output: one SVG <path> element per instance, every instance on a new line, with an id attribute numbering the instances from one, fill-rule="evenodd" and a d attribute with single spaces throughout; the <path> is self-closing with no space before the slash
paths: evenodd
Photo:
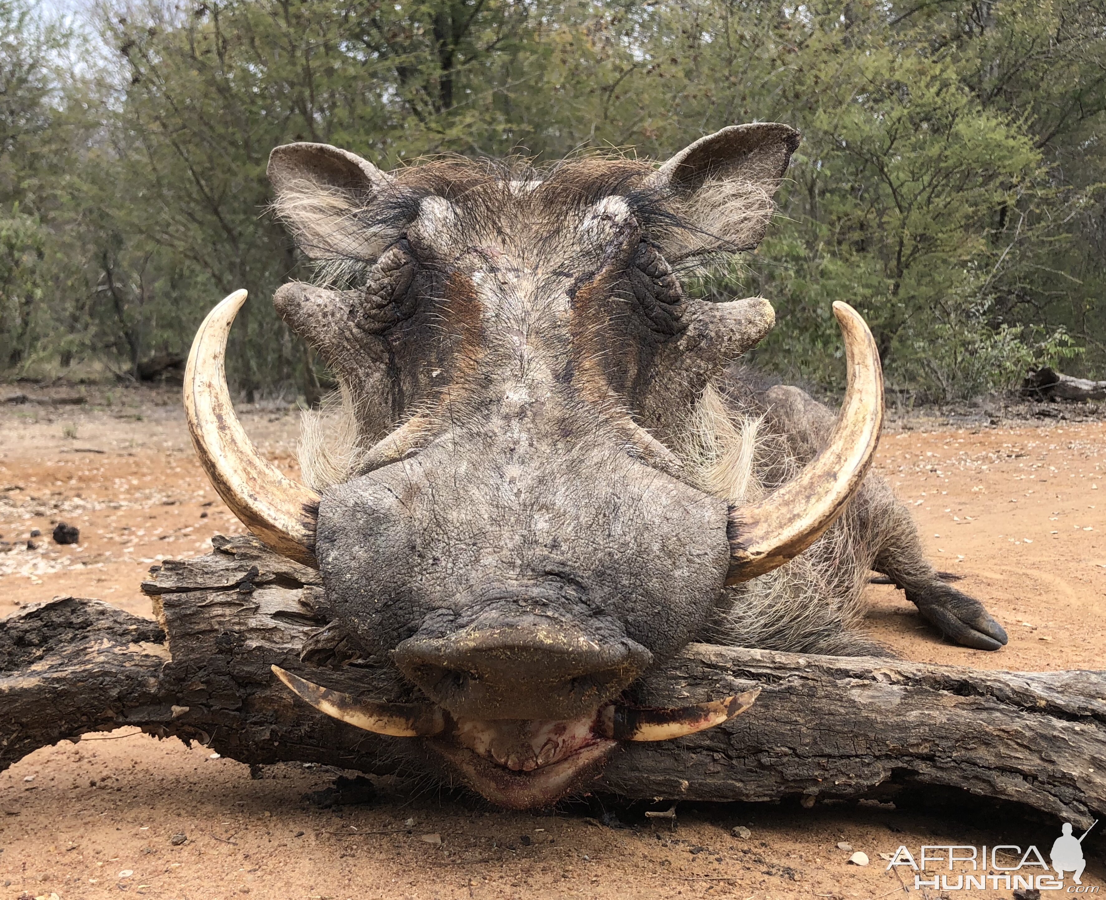
<path id="1" fill-rule="evenodd" d="M 230 507 L 317 565 L 346 646 L 396 672 L 389 698 L 278 671 L 290 688 L 422 739 L 486 797 L 526 807 L 584 783 L 618 741 L 753 701 L 635 705 L 635 681 L 689 641 L 884 652 L 858 629 L 872 569 L 949 638 L 1005 643 L 865 474 L 883 381 L 863 320 L 835 304 L 835 423 L 733 367 L 772 327 L 766 301 L 684 291 L 697 266 L 757 247 L 797 144 L 785 125 L 741 125 L 659 167 L 393 172 L 321 144 L 273 150 L 275 210 L 319 265 L 275 304 L 341 383 L 336 439 L 307 421 L 301 484 L 246 437 L 222 370 L 241 291 L 197 335 L 189 423 Z"/>

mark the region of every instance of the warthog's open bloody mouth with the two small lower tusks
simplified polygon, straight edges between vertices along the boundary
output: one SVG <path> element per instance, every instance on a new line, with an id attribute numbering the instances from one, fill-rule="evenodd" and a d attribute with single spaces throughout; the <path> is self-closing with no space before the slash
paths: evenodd
<path id="1" fill-rule="evenodd" d="M 604 703 L 576 719 L 473 719 L 432 703 L 384 703 L 331 690 L 272 667 L 320 712 L 394 737 L 421 737 L 479 794 L 511 809 L 549 806 L 598 775 L 619 743 L 669 741 L 748 710 L 760 688 L 677 709 Z"/>

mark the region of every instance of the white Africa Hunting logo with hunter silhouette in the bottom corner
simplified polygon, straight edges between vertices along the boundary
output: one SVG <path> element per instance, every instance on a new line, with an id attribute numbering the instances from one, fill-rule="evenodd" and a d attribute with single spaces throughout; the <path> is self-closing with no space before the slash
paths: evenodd
<path id="1" fill-rule="evenodd" d="M 1091 828 L 1097 824 L 1098 819 L 1095 819 L 1091 823 Z M 1008 891 L 1058 891 L 1066 887 L 1068 893 L 1098 893 L 1098 888 L 1082 881 L 1083 869 L 1087 865 L 1083 858 L 1083 838 L 1091 833 L 1091 828 L 1075 837 L 1071 823 L 1065 821 L 1061 836 L 1053 841 L 1048 852 L 1051 866 L 1032 844 L 1024 851 L 1015 844 L 999 844 L 990 848 L 985 845 L 970 847 L 946 844 L 922 846 L 917 857 L 901 845 L 887 868 L 907 866 L 912 869 L 915 890 L 933 888 L 960 891 L 990 888 Z M 1016 865 L 1009 865 L 1014 860 Z M 958 866 L 960 871 L 956 871 Z M 946 867 L 954 875 L 935 873 L 935 870 Z M 1072 876 L 1074 883 L 1064 883 L 1065 873 Z"/>

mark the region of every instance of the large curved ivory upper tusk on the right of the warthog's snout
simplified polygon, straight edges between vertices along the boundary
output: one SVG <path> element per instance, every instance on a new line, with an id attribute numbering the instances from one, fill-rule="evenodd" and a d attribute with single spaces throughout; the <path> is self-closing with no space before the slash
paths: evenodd
<path id="1" fill-rule="evenodd" d="M 730 511 L 728 585 L 771 572 L 817 541 L 860 486 L 879 441 L 884 376 L 868 326 L 834 303 L 848 363 L 848 386 L 830 442 L 794 479 L 758 503 Z"/>

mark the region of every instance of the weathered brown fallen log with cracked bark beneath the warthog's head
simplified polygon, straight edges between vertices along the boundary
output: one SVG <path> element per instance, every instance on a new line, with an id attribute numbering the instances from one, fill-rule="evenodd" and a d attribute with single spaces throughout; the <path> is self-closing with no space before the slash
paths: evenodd
<path id="1" fill-rule="evenodd" d="M 319 574 L 250 537 L 155 566 L 157 621 L 71 597 L 0 622 L 0 767 L 90 731 L 137 725 L 250 764 L 417 772 L 413 743 L 300 702 L 275 663 L 388 699 L 394 673 L 333 628 Z M 641 701 L 763 689 L 733 721 L 626 745 L 594 789 L 629 798 L 857 798 L 890 783 L 1014 800 L 1084 828 L 1106 814 L 1106 672 L 997 672 L 698 643 L 651 672 Z"/>

